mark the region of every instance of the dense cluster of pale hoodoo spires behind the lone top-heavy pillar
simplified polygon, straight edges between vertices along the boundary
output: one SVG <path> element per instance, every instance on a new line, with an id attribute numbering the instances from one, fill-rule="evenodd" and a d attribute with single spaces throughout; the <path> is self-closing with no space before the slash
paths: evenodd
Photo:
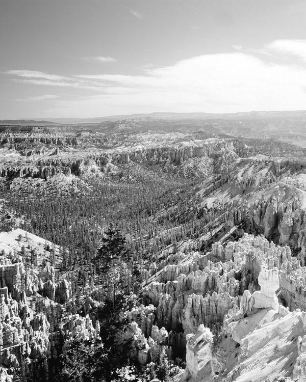
<path id="1" fill-rule="evenodd" d="M 270 269 L 291 259 L 288 248 L 281 249 L 262 237 L 247 234 L 236 243 L 228 243 L 224 249 L 216 243 L 213 251 L 214 256 L 224 258 L 223 263 L 212 263 L 207 256 L 200 257 L 196 253 L 188 261 L 179 256 L 175 264 L 159 272 L 157 280 L 163 282 L 154 281 L 144 289 L 144 296 L 157 307 L 158 325 L 168 331 L 182 325 L 185 335 L 194 332 L 201 323 L 213 328 L 222 323 L 224 314 L 234 304 L 240 304 L 245 290 L 250 288 L 253 292 L 252 283 L 258 281 L 265 263 L 268 274 L 274 275 Z M 266 284 L 262 282 L 259 297 L 269 299 L 269 289 L 265 289 Z M 275 296 L 274 290 L 272 295 Z M 256 301 L 260 304 L 258 299 Z"/>

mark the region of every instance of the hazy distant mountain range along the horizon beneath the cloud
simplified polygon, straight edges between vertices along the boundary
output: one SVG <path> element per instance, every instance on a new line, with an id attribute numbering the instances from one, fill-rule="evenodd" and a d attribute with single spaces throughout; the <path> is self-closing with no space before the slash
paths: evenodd
<path id="1" fill-rule="evenodd" d="M 304 119 L 306 111 L 271 111 L 271 112 L 239 112 L 239 113 L 150 113 L 150 114 L 130 114 L 95 118 L 55 118 L 48 121 L 33 118 L 19 120 L 0 120 L 2 125 L 54 125 L 54 124 L 96 124 L 106 121 L 122 121 L 126 119 L 165 119 L 165 120 L 258 120 L 258 119 Z"/>

